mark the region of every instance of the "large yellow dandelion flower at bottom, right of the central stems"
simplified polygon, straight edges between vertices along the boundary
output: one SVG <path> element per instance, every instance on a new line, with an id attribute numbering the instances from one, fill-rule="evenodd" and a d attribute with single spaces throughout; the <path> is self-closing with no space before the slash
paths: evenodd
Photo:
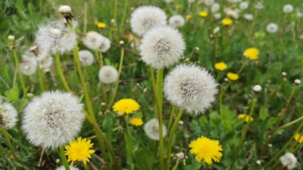
<path id="1" fill-rule="evenodd" d="M 218 140 L 208 139 L 204 136 L 191 141 L 189 144 L 189 151 L 191 154 L 195 155 L 196 161 L 200 162 L 203 160 L 204 163 L 211 165 L 212 162 L 220 162 L 223 151 L 222 146 Z"/>

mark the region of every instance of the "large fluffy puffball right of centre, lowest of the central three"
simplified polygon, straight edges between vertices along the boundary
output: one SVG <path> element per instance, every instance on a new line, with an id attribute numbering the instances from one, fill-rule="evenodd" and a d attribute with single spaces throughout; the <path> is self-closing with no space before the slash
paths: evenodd
<path id="1" fill-rule="evenodd" d="M 163 91 L 170 103 L 188 113 L 203 113 L 215 101 L 214 78 L 196 65 L 178 65 L 164 80 Z"/>

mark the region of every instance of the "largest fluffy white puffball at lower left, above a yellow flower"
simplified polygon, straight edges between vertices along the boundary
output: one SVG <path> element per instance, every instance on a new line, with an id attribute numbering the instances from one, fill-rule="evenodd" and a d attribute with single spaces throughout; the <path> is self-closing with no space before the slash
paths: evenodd
<path id="1" fill-rule="evenodd" d="M 24 109 L 22 129 L 35 146 L 57 148 L 80 131 L 83 104 L 71 93 L 47 91 L 34 97 Z"/>

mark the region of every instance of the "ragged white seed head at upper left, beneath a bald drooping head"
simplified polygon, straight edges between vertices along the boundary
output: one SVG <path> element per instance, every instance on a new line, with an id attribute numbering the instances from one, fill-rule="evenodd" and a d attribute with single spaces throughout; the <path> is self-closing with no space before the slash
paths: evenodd
<path id="1" fill-rule="evenodd" d="M 40 26 L 35 34 L 36 44 L 52 54 L 71 51 L 77 44 L 77 35 L 74 31 L 59 28 L 57 22 Z"/>

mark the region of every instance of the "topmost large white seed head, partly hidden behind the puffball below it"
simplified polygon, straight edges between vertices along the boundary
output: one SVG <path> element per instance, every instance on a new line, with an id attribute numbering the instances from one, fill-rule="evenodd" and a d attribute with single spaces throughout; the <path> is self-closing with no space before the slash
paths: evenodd
<path id="1" fill-rule="evenodd" d="M 153 27 L 166 25 L 166 14 L 159 7 L 141 6 L 134 10 L 131 16 L 133 32 L 143 35 Z"/>

